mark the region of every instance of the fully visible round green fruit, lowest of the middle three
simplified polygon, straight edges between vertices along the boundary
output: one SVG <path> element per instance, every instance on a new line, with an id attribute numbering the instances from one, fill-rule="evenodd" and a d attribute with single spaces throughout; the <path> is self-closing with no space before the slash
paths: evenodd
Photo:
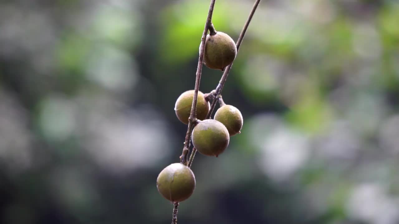
<path id="1" fill-rule="evenodd" d="M 191 135 L 193 145 L 203 155 L 218 156 L 229 145 L 229 131 L 219 121 L 207 119 L 199 122 Z"/>

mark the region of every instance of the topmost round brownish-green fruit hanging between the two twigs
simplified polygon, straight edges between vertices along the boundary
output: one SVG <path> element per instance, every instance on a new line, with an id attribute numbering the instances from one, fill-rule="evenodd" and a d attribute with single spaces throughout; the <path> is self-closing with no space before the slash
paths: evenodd
<path id="1" fill-rule="evenodd" d="M 206 36 L 203 62 L 208 68 L 223 71 L 227 65 L 233 63 L 236 55 L 234 40 L 226 33 L 217 31 L 214 35 Z"/>

